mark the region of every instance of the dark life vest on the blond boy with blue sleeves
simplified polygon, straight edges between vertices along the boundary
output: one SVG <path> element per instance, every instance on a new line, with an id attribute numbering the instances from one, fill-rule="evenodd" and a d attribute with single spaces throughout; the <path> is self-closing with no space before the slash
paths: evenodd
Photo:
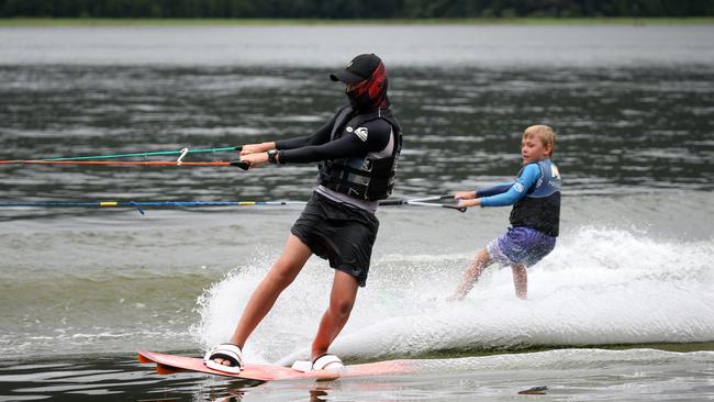
<path id="1" fill-rule="evenodd" d="M 525 197 L 513 204 L 511 225 L 533 227 L 557 237 L 560 226 L 560 172 L 550 159 L 538 161 L 538 181 L 528 189 Z"/>

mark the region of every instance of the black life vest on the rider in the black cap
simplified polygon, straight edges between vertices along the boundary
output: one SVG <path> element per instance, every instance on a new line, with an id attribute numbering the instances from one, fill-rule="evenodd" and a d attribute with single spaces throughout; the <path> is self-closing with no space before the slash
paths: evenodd
<path id="1" fill-rule="evenodd" d="M 402 130 L 388 108 L 354 114 L 349 105 L 337 111 L 331 141 L 361 127 L 366 122 L 382 119 L 392 126 L 394 146 L 384 158 L 368 155 L 325 160 L 320 164 L 320 185 L 360 200 L 377 201 L 388 198 L 394 188 L 397 163 L 402 150 Z"/>

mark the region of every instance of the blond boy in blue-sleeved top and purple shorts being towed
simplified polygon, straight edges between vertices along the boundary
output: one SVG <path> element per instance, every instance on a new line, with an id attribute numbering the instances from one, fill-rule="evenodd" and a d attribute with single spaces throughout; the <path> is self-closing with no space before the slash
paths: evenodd
<path id="1" fill-rule="evenodd" d="M 509 231 L 480 250 L 464 272 L 449 300 L 464 299 L 493 263 L 510 265 L 515 294 L 526 299 L 526 267 L 538 263 L 556 245 L 560 223 L 560 174 L 550 160 L 556 133 L 547 125 L 532 125 L 523 132 L 521 155 L 524 167 L 515 181 L 476 191 L 457 192 L 458 206 L 504 206 L 513 204 Z"/>

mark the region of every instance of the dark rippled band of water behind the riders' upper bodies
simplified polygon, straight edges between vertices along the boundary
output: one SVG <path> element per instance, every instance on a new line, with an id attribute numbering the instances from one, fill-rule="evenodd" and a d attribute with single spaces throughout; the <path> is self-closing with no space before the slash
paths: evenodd
<path id="1" fill-rule="evenodd" d="M 401 193 L 438 193 L 515 175 L 520 135 L 534 123 L 559 133 L 556 159 L 568 180 L 566 193 L 712 190 L 711 70 L 395 68 L 393 74 L 391 98 L 406 135 Z M 0 67 L 0 157 L 221 147 L 308 135 L 343 102 L 339 86 L 326 75 L 237 67 Z M 3 167 L 2 197 L 304 198 L 315 171 L 313 166 L 286 166 L 279 176 L 272 169 L 187 170 Z M 157 187 L 157 180 L 171 186 Z"/>

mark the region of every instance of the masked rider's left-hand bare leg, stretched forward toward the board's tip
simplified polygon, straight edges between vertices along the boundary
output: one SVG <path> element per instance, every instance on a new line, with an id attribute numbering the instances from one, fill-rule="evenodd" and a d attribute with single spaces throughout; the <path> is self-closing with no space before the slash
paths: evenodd
<path id="1" fill-rule="evenodd" d="M 230 343 L 237 345 L 241 349 L 250 336 L 250 333 L 258 326 L 260 321 L 268 314 L 280 293 L 295 279 L 305 265 L 312 250 L 300 238 L 294 235 L 288 237 L 286 247 L 278 260 L 272 265 L 258 287 L 253 291 L 248 304 L 241 315 Z M 223 359 L 215 359 L 217 364 L 228 365 Z"/>

